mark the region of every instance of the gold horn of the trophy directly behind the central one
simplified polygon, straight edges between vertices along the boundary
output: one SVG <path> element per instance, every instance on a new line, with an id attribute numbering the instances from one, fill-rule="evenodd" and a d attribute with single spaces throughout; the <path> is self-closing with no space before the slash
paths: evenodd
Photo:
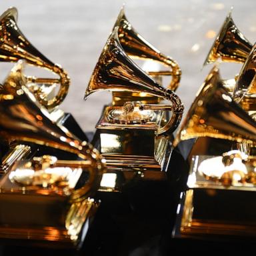
<path id="1" fill-rule="evenodd" d="M 151 59 L 171 69 L 167 71 L 149 71 L 147 73 L 149 75 L 171 75 L 172 80 L 167 88 L 175 91 L 181 79 L 181 69 L 177 62 L 155 49 L 155 47 L 149 44 L 133 29 L 131 23 L 125 17 L 124 8 L 121 9 L 113 29 L 115 27 L 118 27 L 118 37 L 121 47 L 129 57 Z"/>

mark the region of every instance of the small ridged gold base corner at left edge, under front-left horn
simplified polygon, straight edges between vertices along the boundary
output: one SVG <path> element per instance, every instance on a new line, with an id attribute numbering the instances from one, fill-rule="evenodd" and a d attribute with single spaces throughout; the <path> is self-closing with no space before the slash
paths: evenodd
<path id="1" fill-rule="evenodd" d="M 0 166 L 0 175 L 5 173 L 16 161 L 25 159 L 31 152 L 28 145 L 16 145 L 11 148 L 2 159 Z"/>

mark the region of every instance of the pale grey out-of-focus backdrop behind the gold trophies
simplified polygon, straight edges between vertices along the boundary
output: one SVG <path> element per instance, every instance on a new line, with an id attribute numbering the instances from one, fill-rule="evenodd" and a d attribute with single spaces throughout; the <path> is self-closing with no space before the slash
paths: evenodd
<path id="1" fill-rule="evenodd" d="M 124 1 L 120 0 L 2 0 L 0 11 L 19 11 L 18 26 L 31 43 L 71 77 L 71 87 L 61 109 L 73 113 L 85 131 L 93 131 L 111 93 L 83 95 L 97 59 Z M 157 49 L 179 63 L 183 75 L 178 95 L 185 112 L 211 66 L 203 61 L 231 7 L 233 19 L 251 41 L 256 37 L 256 3 L 253 0 L 127 0 L 125 13 L 133 27 Z M 3 81 L 12 64 L 0 63 Z M 221 64 L 221 75 L 231 78 L 239 64 Z"/>

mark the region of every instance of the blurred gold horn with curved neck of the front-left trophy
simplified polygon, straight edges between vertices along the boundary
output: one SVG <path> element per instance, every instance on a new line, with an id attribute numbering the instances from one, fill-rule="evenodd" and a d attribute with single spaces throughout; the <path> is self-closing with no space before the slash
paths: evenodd
<path id="1" fill-rule="evenodd" d="M 89 181 L 74 195 L 80 197 L 99 185 L 105 167 L 103 159 L 89 143 L 79 141 L 47 117 L 47 110 L 25 86 L 22 70 L 23 63 L 19 61 L 0 89 L 0 137 L 61 149 L 88 161 Z"/>

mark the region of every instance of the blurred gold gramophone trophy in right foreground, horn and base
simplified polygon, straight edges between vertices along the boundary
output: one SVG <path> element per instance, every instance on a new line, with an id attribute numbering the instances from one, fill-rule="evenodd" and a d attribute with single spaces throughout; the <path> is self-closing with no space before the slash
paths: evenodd
<path id="1" fill-rule="evenodd" d="M 174 237 L 233 241 L 256 236 L 251 211 L 256 206 L 255 160 L 231 151 L 232 141 L 255 145 L 255 139 L 255 121 L 231 98 L 213 67 L 173 142 L 182 153 L 184 143 L 193 140 L 183 154 L 190 168 L 181 173 L 189 177 L 186 189 L 180 187 Z"/>

